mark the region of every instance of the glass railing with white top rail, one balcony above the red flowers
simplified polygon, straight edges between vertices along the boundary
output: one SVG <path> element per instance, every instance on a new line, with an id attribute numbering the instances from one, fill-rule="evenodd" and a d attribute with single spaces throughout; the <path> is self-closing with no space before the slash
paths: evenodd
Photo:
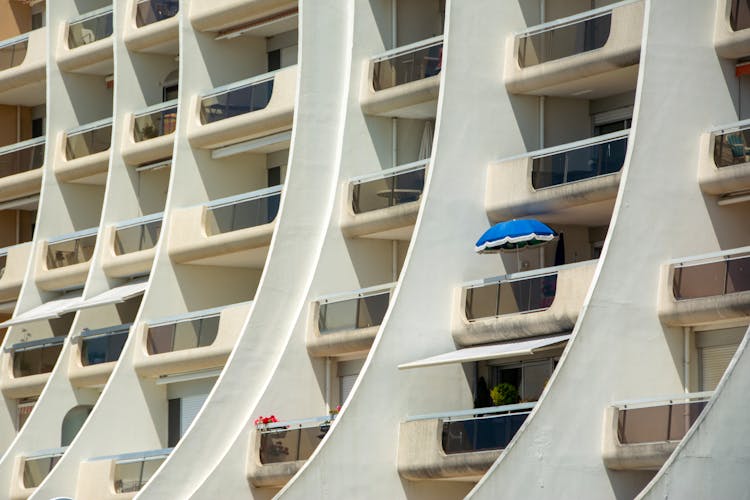
<path id="1" fill-rule="evenodd" d="M 395 283 L 318 299 L 318 331 L 322 334 L 379 326 Z"/>

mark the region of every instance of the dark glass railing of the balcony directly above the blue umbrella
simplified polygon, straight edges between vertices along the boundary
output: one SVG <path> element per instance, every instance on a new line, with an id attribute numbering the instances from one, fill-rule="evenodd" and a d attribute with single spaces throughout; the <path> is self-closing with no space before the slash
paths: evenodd
<path id="1" fill-rule="evenodd" d="M 629 133 L 623 130 L 533 155 L 531 185 L 543 189 L 619 172 Z"/>

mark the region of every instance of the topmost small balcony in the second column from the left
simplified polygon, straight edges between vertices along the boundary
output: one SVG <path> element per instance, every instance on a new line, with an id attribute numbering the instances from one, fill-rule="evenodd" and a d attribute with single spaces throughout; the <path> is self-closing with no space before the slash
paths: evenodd
<path id="1" fill-rule="evenodd" d="M 57 63 L 63 71 L 90 75 L 111 75 L 112 6 L 68 21 L 58 48 Z"/>

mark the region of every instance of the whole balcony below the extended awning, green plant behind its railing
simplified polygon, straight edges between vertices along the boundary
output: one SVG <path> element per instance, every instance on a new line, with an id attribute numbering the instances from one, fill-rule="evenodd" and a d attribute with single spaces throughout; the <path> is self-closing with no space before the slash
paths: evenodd
<path id="1" fill-rule="evenodd" d="M 534 405 L 408 418 L 399 432 L 399 474 L 413 481 L 478 481 L 513 440 Z"/>

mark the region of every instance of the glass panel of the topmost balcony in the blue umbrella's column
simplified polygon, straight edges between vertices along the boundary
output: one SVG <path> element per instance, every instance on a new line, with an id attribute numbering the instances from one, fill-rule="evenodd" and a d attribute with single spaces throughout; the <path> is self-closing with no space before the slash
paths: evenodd
<path id="1" fill-rule="evenodd" d="M 522 68 L 562 59 L 604 47 L 609 38 L 612 13 L 541 33 L 522 35 L 518 40 L 518 64 Z"/>

